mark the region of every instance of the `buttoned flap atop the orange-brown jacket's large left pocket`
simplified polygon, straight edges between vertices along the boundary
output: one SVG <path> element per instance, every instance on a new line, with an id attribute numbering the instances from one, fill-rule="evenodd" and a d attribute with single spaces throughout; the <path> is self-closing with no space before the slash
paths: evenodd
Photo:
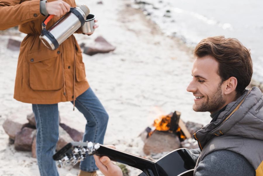
<path id="1" fill-rule="evenodd" d="M 49 49 L 41 49 L 34 52 L 30 52 L 28 54 L 28 59 L 30 63 L 35 63 L 46 59 L 50 59 L 52 57 L 58 57 L 60 54 L 61 52 L 58 49 L 53 51 Z"/>

